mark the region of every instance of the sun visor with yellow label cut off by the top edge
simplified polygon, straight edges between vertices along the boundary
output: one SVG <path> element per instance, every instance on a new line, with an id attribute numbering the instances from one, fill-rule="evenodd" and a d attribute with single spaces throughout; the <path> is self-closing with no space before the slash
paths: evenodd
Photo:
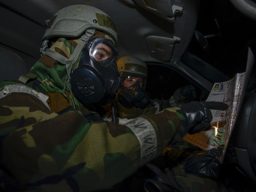
<path id="1" fill-rule="evenodd" d="M 175 13 L 182 13 L 183 8 L 172 5 L 170 0 L 133 0 L 140 7 L 160 16 L 161 18 L 175 23 Z"/>

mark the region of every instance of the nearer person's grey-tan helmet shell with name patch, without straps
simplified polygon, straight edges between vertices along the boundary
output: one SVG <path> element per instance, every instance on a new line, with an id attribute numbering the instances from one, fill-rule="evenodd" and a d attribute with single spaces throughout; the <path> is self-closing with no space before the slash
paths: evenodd
<path id="1" fill-rule="evenodd" d="M 117 46 L 117 30 L 112 19 L 103 11 L 88 5 L 71 5 L 50 19 L 43 40 L 51 37 L 77 37 L 88 29 L 110 35 Z"/>

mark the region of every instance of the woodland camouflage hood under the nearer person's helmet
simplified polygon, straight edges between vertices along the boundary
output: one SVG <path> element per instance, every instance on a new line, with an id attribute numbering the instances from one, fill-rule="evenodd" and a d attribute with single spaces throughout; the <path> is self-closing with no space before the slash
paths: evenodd
<path id="1" fill-rule="evenodd" d="M 96 31 L 95 35 L 92 38 L 104 37 L 106 39 L 113 39 L 104 32 Z M 68 39 L 68 38 L 58 38 L 56 41 L 52 42 L 51 51 L 57 52 L 64 56 L 66 59 L 71 59 L 75 48 L 78 43 L 81 41 L 81 38 Z M 84 46 L 85 47 L 85 46 Z M 78 66 L 80 58 L 82 56 L 82 50 L 77 57 L 76 61 L 72 65 L 71 70 L 75 70 Z M 70 77 L 67 72 L 66 64 L 60 63 L 57 60 L 51 58 L 47 55 L 42 55 L 42 57 L 33 65 L 29 72 L 30 76 L 36 76 L 36 79 L 40 81 L 40 88 L 37 88 L 37 91 L 41 91 L 44 94 L 49 96 L 48 104 L 53 112 L 58 112 L 66 107 L 72 105 L 75 110 L 79 112 L 78 102 L 72 93 L 70 85 Z M 28 85 L 30 83 L 27 83 Z M 29 85 L 34 88 L 34 85 Z M 42 89 L 44 91 L 42 91 Z M 56 106 L 56 101 L 62 103 L 62 106 Z"/>

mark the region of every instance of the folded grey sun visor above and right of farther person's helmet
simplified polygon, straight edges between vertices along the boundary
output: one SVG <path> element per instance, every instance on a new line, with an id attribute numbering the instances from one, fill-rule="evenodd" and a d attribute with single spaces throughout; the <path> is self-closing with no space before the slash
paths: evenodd
<path id="1" fill-rule="evenodd" d="M 180 42 L 181 38 L 176 36 L 169 38 L 151 35 L 146 38 L 146 41 L 150 56 L 161 61 L 170 61 L 174 45 Z"/>

